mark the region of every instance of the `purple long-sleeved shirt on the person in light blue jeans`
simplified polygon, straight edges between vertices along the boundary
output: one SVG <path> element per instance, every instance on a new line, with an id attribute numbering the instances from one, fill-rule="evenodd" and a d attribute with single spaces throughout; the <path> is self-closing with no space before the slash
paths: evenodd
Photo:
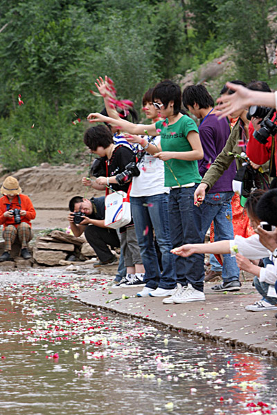
<path id="1" fill-rule="evenodd" d="M 215 114 L 208 115 L 199 125 L 199 136 L 204 151 L 204 158 L 198 161 L 199 173 L 202 177 L 208 170 L 208 167 L 210 167 L 209 165 L 221 153 L 229 138 L 230 132 L 227 119 L 222 118 L 220 120 Z M 229 169 L 225 170 L 208 193 L 232 192 L 232 181 L 235 172 L 236 166 L 234 160 Z"/>

